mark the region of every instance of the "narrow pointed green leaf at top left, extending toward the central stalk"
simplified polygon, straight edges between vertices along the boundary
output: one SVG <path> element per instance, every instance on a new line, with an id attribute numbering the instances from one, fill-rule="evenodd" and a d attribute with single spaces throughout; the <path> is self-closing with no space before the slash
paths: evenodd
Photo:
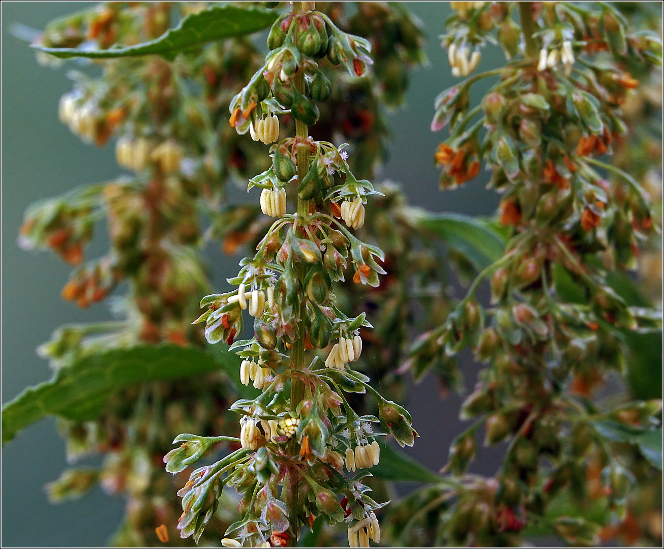
<path id="1" fill-rule="evenodd" d="M 215 5 L 199 13 L 187 15 L 175 29 L 169 29 L 161 37 L 135 46 L 110 50 L 45 48 L 38 45 L 34 45 L 33 48 L 62 59 L 71 57 L 110 59 L 157 54 L 172 61 L 180 52 L 201 46 L 206 42 L 248 35 L 267 29 L 276 21 L 277 15 L 274 10 Z"/>

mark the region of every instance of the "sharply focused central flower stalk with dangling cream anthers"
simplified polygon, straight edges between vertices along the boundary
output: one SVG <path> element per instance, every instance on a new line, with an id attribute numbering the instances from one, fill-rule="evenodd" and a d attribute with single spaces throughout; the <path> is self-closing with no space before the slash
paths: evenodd
<path id="1" fill-rule="evenodd" d="M 369 473 L 349 478 L 343 467 L 354 472 L 378 463 L 376 437 L 385 433 L 372 424 L 401 445 L 412 445 L 416 431 L 404 408 L 350 368 L 361 353 L 359 329 L 371 326 L 364 313 L 347 317 L 331 291 L 347 266 L 358 285 L 378 286 L 378 275 L 385 274 L 382 252 L 347 228 L 361 227 L 367 196 L 378 193 L 351 173 L 343 146 L 311 139 L 308 126 L 319 118 L 315 102 L 327 100 L 332 87 L 316 60 L 327 57 L 361 77 L 372 62 L 370 46 L 339 30 L 313 3 L 295 2 L 274 23 L 268 47 L 266 63 L 230 104 L 230 125 L 271 141 L 278 135 L 273 117 L 290 113 L 295 119 L 295 135 L 270 147 L 272 166 L 248 185 L 263 189 L 262 210 L 277 220 L 256 255 L 244 258 L 238 275 L 228 279 L 238 288 L 205 297 L 201 307 L 208 309 L 197 320 L 206 323 L 208 342 L 237 350 L 242 381 L 253 380 L 262 392 L 232 405 L 242 415 L 242 449 L 191 474 L 179 492 L 184 512 L 178 527 L 183 538 L 198 539 L 228 483 L 242 496 L 242 518 L 228 528 L 226 546 L 292 545 L 301 526 L 313 528 L 317 519 L 349 522 L 351 546 L 368 546 L 370 536 L 380 539 L 375 512 L 384 504 L 367 495 L 362 479 Z M 284 211 L 284 193 L 297 193 L 293 214 Z M 245 309 L 254 317 L 254 337 L 236 341 Z M 330 353 L 333 360 L 325 360 Z M 378 402 L 378 417 L 358 416 L 345 397 L 366 391 Z M 210 445 L 205 437 L 182 437 L 185 446 L 165 457 L 173 473 Z"/>

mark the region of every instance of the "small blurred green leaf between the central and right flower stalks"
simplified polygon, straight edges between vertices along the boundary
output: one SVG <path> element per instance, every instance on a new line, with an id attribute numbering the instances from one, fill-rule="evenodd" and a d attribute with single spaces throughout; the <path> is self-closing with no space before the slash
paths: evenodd
<path id="1" fill-rule="evenodd" d="M 466 256 L 477 270 L 499 260 L 505 240 L 484 222 L 461 214 L 423 214 L 420 228 L 440 236 L 452 250 Z"/>

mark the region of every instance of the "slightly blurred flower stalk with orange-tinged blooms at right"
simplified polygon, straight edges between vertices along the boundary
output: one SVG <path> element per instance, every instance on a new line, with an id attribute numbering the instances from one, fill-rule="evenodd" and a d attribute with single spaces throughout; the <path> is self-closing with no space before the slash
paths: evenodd
<path id="1" fill-rule="evenodd" d="M 661 39 L 629 29 L 609 3 L 519 3 L 520 27 L 515 5 L 453 5 L 443 44 L 456 76 L 479 65 L 489 41 L 508 63 L 436 100 L 432 129 L 450 127 L 435 155 L 440 185 L 463 185 L 484 163 L 490 187 L 503 194 L 499 222 L 508 240 L 447 321 L 412 349 L 418 362 L 432 349 L 442 360 L 471 347 L 488 366 L 461 409 L 461 418 L 478 419 L 450 449 L 446 469 L 459 485 L 416 493 L 395 531 L 414 544 L 495 546 L 519 544 L 535 527 L 572 544 L 596 543 L 629 519 L 637 477 L 661 486 L 661 460 L 644 446 L 648 437 L 661 440 L 661 400 L 621 402 L 597 391 L 612 374 L 628 374 L 627 342 L 661 338 L 661 311 L 635 298 L 623 275 L 661 234 L 651 213 L 661 194 L 646 193 L 611 163 L 629 131 L 622 106 L 640 86 L 627 70 L 659 70 Z M 491 76 L 500 79 L 470 108 L 469 88 Z M 655 170 L 661 188 L 661 164 L 641 165 Z M 482 307 L 476 291 L 487 278 L 491 306 Z M 485 444 L 507 441 L 490 479 L 465 474 L 482 424 Z M 426 513 L 406 514 L 418 506 Z"/>

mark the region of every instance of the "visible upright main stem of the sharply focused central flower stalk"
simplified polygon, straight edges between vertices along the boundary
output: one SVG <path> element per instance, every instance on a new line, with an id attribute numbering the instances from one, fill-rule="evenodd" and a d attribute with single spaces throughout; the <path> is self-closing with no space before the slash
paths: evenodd
<path id="1" fill-rule="evenodd" d="M 293 2 L 293 13 L 301 13 L 301 2 Z M 295 89 L 304 94 L 304 71 L 301 67 L 293 75 L 293 85 Z M 307 125 L 299 120 L 295 120 L 295 135 L 303 139 L 309 137 L 309 129 Z M 305 177 L 309 170 L 309 147 L 304 144 L 296 145 L 297 151 L 297 183 Z M 309 200 L 302 200 L 297 196 L 297 215 L 304 217 L 309 215 Z M 297 277 L 300 280 L 304 279 L 304 269 L 301 264 L 297 265 Z M 302 299 L 299 306 L 299 321 L 297 323 L 297 336 L 291 347 L 291 362 L 295 370 L 303 370 L 304 364 L 304 341 L 306 338 L 304 315 L 306 313 L 306 301 Z M 297 406 L 304 397 L 304 386 L 298 379 L 291 378 L 291 411 L 295 412 Z M 293 443 L 294 445 L 294 443 Z M 298 510 L 299 505 L 297 502 L 297 491 L 299 488 L 299 473 L 294 467 L 291 468 L 288 479 L 288 517 L 290 519 L 291 539 L 289 544 L 297 546 L 297 536 L 300 530 Z"/>

